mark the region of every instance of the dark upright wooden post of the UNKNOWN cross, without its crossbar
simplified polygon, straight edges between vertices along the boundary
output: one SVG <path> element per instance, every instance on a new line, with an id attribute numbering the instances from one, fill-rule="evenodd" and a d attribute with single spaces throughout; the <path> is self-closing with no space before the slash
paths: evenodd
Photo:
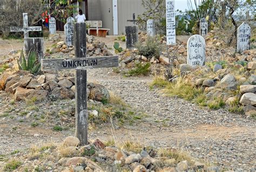
<path id="1" fill-rule="evenodd" d="M 86 24 L 75 23 L 75 56 L 86 57 Z M 76 137 L 81 145 L 87 140 L 87 75 L 86 70 L 76 70 Z"/>

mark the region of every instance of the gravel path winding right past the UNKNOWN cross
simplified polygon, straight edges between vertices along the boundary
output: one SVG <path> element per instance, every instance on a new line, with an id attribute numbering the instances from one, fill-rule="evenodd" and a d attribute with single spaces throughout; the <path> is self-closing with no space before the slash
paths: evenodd
<path id="1" fill-rule="evenodd" d="M 256 123 L 253 119 L 223 109 L 201 109 L 183 99 L 162 96 L 158 90 L 149 89 L 151 78 L 124 78 L 111 70 L 90 70 L 88 78 L 147 113 L 145 120 L 149 124 L 116 131 L 117 138 L 133 138 L 154 147 L 186 150 L 224 169 L 255 168 Z"/>

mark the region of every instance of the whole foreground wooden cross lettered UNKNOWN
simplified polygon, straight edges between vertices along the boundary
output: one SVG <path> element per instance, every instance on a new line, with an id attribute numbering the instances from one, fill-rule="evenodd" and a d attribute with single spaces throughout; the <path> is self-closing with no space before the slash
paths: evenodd
<path id="1" fill-rule="evenodd" d="M 75 23 L 74 59 L 42 59 L 42 70 L 76 69 L 76 137 L 87 144 L 87 74 L 86 69 L 118 67 L 118 56 L 86 58 L 86 24 Z"/>

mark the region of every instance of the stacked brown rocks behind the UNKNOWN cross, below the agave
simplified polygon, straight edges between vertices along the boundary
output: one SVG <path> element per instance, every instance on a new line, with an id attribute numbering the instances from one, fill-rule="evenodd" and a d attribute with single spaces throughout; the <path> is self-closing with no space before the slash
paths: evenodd
<path id="1" fill-rule="evenodd" d="M 73 99 L 75 98 L 75 77 L 60 77 L 58 74 L 44 73 L 32 75 L 28 71 L 18 70 L 4 80 L 5 91 L 14 94 L 16 101 L 36 98 L 43 101 L 48 98 Z M 87 84 L 87 97 L 95 101 L 109 99 L 109 91 L 100 84 Z"/>

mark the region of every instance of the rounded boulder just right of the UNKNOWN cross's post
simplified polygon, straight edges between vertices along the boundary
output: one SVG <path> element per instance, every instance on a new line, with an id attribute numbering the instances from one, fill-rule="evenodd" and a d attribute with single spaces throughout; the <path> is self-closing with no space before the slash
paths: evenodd
<path id="1" fill-rule="evenodd" d="M 90 99 L 102 102 L 110 98 L 109 90 L 107 90 L 103 85 L 89 83 L 88 88 L 90 89 Z"/>

